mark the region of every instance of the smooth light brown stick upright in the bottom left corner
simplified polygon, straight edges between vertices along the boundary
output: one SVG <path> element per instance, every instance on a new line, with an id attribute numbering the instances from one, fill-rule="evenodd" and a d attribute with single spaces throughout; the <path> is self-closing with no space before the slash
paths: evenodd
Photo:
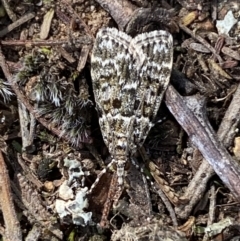
<path id="1" fill-rule="evenodd" d="M 22 232 L 14 209 L 8 171 L 0 150 L 0 203 L 5 223 L 6 240 L 21 241 Z"/>

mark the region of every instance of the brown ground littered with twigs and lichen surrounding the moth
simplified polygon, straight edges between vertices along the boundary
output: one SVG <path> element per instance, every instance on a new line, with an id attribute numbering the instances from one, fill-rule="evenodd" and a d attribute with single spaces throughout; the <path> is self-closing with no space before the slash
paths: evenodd
<path id="1" fill-rule="evenodd" d="M 0 4 L 3 240 L 238 240 L 238 1 Z M 100 28 L 173 35 L 155 126 L 121 192 L 98 124 L 91 50 Z M 234 239 L 235 238 L 235 239 Z"/>

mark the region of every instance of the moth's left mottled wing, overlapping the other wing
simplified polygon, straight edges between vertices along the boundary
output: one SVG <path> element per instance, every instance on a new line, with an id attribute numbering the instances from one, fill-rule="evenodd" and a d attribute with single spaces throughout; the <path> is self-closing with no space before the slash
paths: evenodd
<path id="1" fill-rule="evenodd" d="M 101 29 L 93 47 L 91 76 L 99 124 L 111 155 L 129 155 L 136 149 L 133 126 L 135 96 L 140 88 L 139 72 L 145 63 L 141 46 L 114 28 Z"/>

